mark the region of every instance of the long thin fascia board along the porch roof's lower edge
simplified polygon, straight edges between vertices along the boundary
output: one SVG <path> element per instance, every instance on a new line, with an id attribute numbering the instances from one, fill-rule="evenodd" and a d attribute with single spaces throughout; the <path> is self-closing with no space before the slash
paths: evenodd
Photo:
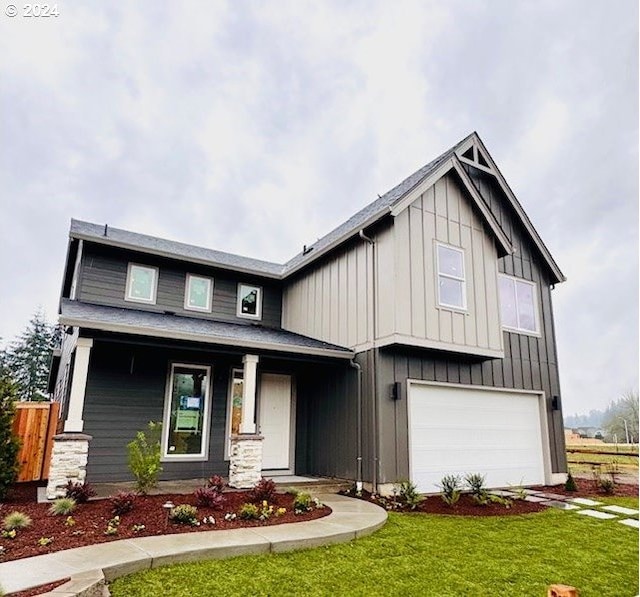
<path id="1" fill-rule="evenodd" d="M 294 354 L 307 354 L 323 357 L 334 357 L 340 359 L 352 359 L 354 354 L 352 351 L 345 352 L 340 350 L 332 350 L 330 348 L 310 348 L 306 346 L 288 346 L 283 344 L 274 344 L 272 342 L 256 342 L 256 341 L 239 341 L 232 338 L 224 338 L 219 336 L 205 336 L 203 334 L 194 334 L 191 332 L 178 332 L 174 330 L 162 330 L 148 327 L 139 327 L 134 325 L 109 323 L 99 320 L 90 320 L 77 317 L 61 316 L 60 323 L 79 328 L 87 328 L 92 330 L 100 330 L 103 332 L 114 332 L 119 334 L 136 334 L 138 336 L 148 336 L 153 338 L 170 338 L 172 340 L 187 340 L 191 342 L 200 342 L 205 344 L 220 344 L 222 346 L 234 346 L 237 348 L 271 350 L 275 352 L 287 352 Z"/>

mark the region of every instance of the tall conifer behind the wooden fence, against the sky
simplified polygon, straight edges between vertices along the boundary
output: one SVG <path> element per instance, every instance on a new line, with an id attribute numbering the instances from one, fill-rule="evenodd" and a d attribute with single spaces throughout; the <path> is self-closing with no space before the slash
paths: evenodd
<path id="1" fill-rule="evenodd" d="M 59 344 L 60 330 L 47 322 L 38 310 L 25 330 L 5 354 L 5 366 L 22 400 L 46 400 L 47 379 L 53 349 Z"/>

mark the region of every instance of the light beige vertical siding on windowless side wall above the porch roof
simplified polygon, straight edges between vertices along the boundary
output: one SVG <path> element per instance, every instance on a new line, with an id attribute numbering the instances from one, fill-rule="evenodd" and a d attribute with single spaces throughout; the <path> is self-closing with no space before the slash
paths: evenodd
<path id="1" fill-rule="evenodd" d="M 339 346 L 366 348 L 373 327 L 370 254 L 367 243 L 353 241 L 285 282 L 282 327 Z"/>

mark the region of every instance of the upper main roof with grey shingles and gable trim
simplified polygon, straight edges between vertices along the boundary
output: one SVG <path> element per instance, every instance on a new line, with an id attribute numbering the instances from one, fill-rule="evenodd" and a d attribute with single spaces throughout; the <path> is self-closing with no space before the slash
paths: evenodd
<path id="1" fill-rule="evenodd" d="M 420 194 L 425 186 L 430 186 L 430 184 L 433 184 L 438 178 L 453 169 L 458 174 L 461 183 L 467 189 L 469 196 L 480 211 L 480 214 L 489 225 L 489 229 L 495 236 L 502 254 L 513 253 L 509 238 L 488 208 L 481 193 L 473 185 L 466 171 L 461 166 L 462 161 L 471 163 L 463 154 L 467 153 L 469 148 L 473 146 L 481 148 L 480 155 L 482 155 L 482 161 L 487 163 L 488 166 L 485 168 L 484 165 L 477 163 L 473 165 L 490 172 L 496 177 L 505 197 L 522 222 L 531 241 L 538 248 L 544 261 L 551 270 L 553 281 L 563 282 L 566 280 L 564 274 L 560 271 L 551 253 L 542 242 L 540 235 L 533 227 L 533 224 L 509 188 L 476 132 L 471 133 L 462 139 L 462 141 L 439 155 L 435 160 L 432 160 L 411 176 L 405 178 L 400 184 L 393 187 L 384 195 L 379 196 L 378 199 L 362 208 L 346 222 L 318 239 L 315 243 L 309 245 L 304 252 L 298 253 L 285 264 L 252 259 L 222 251 L 214 251 L 212 249 L 79 220 L 71 220 L 70 236 L 72 238 L 90 240 L 174 259 L 185 259 L 193 263 L 240 271 L 267 278 L 285 279 L 346 242 L 358 234 L 360 230 L 367 228 L 389 214 L 396 215 L 411 202 L 412 197 Z"/>

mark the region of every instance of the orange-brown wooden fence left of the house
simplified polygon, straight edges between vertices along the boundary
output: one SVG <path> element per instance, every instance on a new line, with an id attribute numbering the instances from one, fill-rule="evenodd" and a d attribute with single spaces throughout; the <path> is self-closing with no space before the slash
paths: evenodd
<path id="1" fill-rule="evenodd" d="M 18 481 L 40 481 L 49 477 L 53 436 L 58 426 L 57 402 L 18 402 L 13 431 L 20 438 Z"/>

